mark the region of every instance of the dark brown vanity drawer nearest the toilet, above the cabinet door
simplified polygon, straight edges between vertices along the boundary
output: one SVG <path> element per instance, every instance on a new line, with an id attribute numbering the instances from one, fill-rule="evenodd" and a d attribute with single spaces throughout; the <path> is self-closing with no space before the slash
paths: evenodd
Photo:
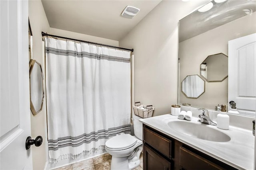
<path id="1" fill-rule="evenodd" d="M 172 141 L 144 128 L 143 140 L 168 158 L 172 158 Z"/>

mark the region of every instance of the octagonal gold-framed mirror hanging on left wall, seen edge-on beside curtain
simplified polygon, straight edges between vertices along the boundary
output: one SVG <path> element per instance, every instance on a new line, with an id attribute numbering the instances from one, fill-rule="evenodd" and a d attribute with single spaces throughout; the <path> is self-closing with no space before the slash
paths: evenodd
<path id="1" fill-rule="evenodd" d="M 36 60 L 29 62 L 30 110 L 33 115 L 42 110 L 44 102 L 44 75 L 41 64 Z"/>

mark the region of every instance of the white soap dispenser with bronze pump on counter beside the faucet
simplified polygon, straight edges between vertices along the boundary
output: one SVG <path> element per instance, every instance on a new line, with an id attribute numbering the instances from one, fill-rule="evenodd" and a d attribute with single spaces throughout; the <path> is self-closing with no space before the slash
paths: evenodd
<path id="1" fill-rule="evenodd" d="M 220 129 L 229 129 L 229 116 L 226 112 L 226 105 L 221 105 L 220 113 L 217 115 L 217 128 Z"/>

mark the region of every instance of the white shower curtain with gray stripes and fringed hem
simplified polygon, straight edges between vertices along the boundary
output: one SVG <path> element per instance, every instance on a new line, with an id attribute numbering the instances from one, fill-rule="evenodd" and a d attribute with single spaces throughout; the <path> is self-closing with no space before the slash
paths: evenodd
<path id="1" fill-rule="evenodd" d="M 130 133 L 130 52 L 45 38 L 50 162 Z"/>

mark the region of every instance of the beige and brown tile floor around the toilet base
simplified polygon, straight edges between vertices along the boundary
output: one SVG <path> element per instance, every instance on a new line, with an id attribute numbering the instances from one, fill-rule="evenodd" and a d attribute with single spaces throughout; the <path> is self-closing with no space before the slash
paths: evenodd
<path id="1" fill-rule="evenodd" d="M 54 170 L 110 170 L 111 158 L 110 154 L 104 154 Z M 142 166 L 142 154 L 140 154 L 140 166 L 133 170 L 143 170 Z"/>

